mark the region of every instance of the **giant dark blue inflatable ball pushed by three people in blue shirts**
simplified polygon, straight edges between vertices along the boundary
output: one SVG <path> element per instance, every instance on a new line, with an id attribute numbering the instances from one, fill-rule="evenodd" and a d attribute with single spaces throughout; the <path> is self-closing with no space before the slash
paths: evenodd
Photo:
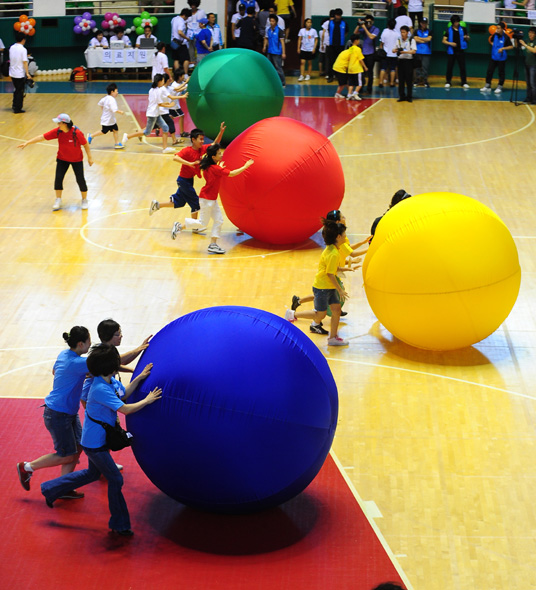
<path id="1" fill-rule="evenodd" d="M 154 336 L 132 395 L 162 399 L 127 417 L 134 455 L 168 496 L 244 513 L 290 500 L 314 479 L 337 424 L 326 359 L 290 322 L 249 307 L 201 309 Z M 129 400 L 130 401 L 130 400 Z"/>

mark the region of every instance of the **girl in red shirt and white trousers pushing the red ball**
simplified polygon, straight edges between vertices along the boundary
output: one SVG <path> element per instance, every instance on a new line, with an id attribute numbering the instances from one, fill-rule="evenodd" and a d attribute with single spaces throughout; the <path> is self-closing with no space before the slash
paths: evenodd
<path id="1" fill-rule="evenodd" d="M 253 164 L 253 160 L 248 160 L 241 168 L 229 170 L 225 168 L 222 158 L 223 149 L 219 143 L 213 143 L 208 146 L 199 165 L 199 168 L 203 172 L 203 177 L 207 182 L 199 193 L 199 204 L 201 206 L 199 219 L 186 219 L 186 229 L 195 228 L 198 232 L 204 231 L 212 219 L 211 240 L 208 246 L 209 254 L 225 254 L 225 250 L 218 244 L 218 239 L 221 238 L 220 230 L 223 224 L 223 214 L 218 204 L 221 179 L 224 176 L 229 176 L 230 178 L 238 176 Z"/>

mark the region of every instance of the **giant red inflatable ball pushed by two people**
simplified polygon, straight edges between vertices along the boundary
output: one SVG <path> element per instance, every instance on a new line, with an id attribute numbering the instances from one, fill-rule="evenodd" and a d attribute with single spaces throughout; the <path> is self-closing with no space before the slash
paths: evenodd
<path id="1" fill-rule="evenodd" d="M 225 150 L 227 168 L 251 168 L 224 178 L 220 195 L 229 219 L 268 244 L 295 244 L 321 227 L 320 217 L 344 197 L 341 161 L 327 137 L 287 117 L 255 123 Z"/>

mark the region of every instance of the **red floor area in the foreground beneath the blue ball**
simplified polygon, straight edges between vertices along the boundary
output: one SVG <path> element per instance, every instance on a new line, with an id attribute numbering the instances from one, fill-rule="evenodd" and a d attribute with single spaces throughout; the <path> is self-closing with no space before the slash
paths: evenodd
<path id="1" fill-rule="evenodd" d="M 283 506 L 248 516 L 197 512 L 156 489 L 130 450 L 124 493 L 135 536 L 108 533 L 107 485 L 83 500 L 48 508 L 37 472 L 22 489 L 16 463 L 51 450 L 38 400 L 0 400 L 0 585 L 48 590 L 370 590 L 400 581 L 389 556 L 328 457 L 307 490 Z M 82 466 L 87 464 L 82 457 Z"/>

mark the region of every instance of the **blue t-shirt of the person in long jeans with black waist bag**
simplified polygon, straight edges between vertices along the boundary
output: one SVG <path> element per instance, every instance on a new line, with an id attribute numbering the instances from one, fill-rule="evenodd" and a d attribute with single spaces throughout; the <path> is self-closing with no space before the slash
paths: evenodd
<path id="1" fill-rule="evenodd" d="M 125 395 L 123 384 L 112 377 L 111 383 L 106 383 L 102 377 L 95 377 L 89 390 L 86 405 L 84 426 L 82 428 L 82 446 L 88 449 L 98 449 L 106 444 L 106 431 L 104 428 L 88 418 L 88 414 L 94 420 L 106 422 L 114 426 L 117 421 L 117 410 L 123 406 L 118 397 Z"/>

